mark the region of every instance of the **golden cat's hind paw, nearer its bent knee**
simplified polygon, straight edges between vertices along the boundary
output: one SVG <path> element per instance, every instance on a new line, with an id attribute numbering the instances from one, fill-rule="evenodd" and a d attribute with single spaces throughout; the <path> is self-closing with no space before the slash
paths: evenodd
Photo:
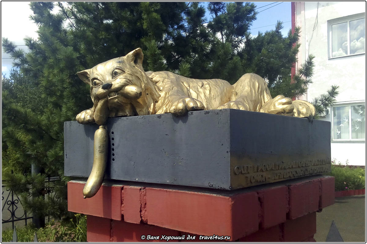
<path id="1" fill-rule="evenodd" d="M 294 105 L 292 104 L 291 98 L 277 95 L 272 100 L 265 102 L 260 112 L 293 116 L 293 110 Z"/>

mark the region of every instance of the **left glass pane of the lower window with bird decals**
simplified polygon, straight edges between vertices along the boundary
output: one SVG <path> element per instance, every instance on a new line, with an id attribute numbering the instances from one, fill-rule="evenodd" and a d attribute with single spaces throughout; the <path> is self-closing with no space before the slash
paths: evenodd
<path id="1" fill-rule="evenodd" d="M 334 139 L 349 139 L 349 108 L 334 107 Z"/>

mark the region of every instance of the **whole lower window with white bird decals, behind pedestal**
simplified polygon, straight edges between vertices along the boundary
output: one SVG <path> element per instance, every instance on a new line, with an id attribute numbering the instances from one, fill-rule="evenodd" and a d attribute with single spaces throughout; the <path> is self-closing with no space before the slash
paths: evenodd
<path id="1" fill-rule="evenodd" d="M 366 138 L 366 105 L 337 105 L 331 108 L 333 141 L 361 141 Z"/>

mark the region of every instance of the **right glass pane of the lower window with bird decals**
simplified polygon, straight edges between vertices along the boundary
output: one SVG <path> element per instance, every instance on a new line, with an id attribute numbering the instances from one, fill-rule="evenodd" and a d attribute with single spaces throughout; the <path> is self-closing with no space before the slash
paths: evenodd
<path id="1" fill-rule="evenodd" d="M 352 139 L 364 139 L 366 136 L 366 106 L 352 106 Z"/>

